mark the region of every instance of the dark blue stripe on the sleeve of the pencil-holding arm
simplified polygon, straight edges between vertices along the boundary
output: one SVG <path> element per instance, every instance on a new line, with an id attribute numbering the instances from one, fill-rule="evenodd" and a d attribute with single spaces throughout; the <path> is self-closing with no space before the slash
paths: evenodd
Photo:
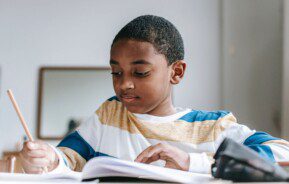
<path id="1" fill-rule="evenodd" d="M 66 136 L 57 147 L 70 148 L 81 155 L 86 161 L 93 157 L 109 156 L 107 154 L 94 151 L 94 149 L 79 135 L 77 131 Z"/>

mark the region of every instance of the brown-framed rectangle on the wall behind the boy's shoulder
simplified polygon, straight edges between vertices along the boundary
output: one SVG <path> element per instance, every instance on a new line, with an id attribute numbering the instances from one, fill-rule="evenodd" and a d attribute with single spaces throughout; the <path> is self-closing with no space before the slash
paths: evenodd
<path id="1" fill-rule="evenodd" d="M 40 68 L 37 137 L 62 139 L 114 96 L 110 73 L 108 67 Z"/>

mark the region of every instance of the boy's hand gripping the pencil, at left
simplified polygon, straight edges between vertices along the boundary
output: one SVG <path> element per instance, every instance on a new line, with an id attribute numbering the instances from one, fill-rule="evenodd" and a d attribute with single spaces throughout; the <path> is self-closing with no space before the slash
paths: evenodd
<path id="1" fill-rule="evenodd" d="M 58 165 L 58 157 L 53 148 L 41 141 L 28 141 L 23 145 L 20 159 L 25 173 L 41 174 L 47 168 L 54 170 Z"/>

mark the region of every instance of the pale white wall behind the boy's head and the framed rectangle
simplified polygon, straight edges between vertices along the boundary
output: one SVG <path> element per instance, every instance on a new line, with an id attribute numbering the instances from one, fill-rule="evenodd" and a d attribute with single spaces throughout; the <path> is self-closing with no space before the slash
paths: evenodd
<path id="1" fill-rule="evenodd" d="M 23 135 L 7 98 L 13 89 L 35 135 L 38 68 L 107 66 L 114 35 L 142 14 L 172 21 L 185 40 L 188 71 L 175 89 L 178 106 L 220 106 L 218 0 L 0 0 L 0 152 Z"/>

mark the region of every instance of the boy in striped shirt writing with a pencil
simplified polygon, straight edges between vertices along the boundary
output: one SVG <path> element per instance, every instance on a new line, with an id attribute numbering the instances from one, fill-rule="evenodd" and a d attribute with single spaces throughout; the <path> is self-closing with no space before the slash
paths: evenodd
<path id="1" fill-rule="evenodd" d="M 230 112 L 173 106 L 172 86 L 183 78 L 186 63 L 182 37 L 164 18 L 140 16 L 122 28 L 111 46 L 110 65 L 116 96 L 57 149 L 25 143 L 20 154 L 25 172 L 81 171 L 89 159 L 106 155 L 209 173 L 225 137 L 274 162 L 289 160 L 288 142 L 237 124 Z"/>

